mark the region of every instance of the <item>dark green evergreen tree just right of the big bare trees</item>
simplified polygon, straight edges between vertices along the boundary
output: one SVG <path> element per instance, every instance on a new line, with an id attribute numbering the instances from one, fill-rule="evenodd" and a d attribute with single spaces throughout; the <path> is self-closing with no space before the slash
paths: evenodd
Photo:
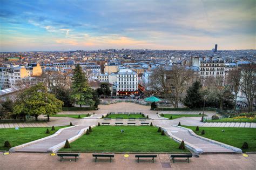
<path id="1" fill-rule="evenodd" d="M 189 108 L 200 108 L 203 96 L 200 92 L 202 85 L 200 81 L 195 81 L 192 86 L 188 87 L 187 95 L 183 100 L 185 106 Z"/>

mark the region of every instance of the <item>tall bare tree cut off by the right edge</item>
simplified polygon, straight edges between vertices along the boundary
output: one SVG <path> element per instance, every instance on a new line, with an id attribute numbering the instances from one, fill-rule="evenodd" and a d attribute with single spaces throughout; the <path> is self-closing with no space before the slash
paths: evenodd
<path id="1" fill-rule="evenodd" d="M 256 64 L 242 66 L 241 91 L 247 99 L 248 112 L 252 112 L 253 100 L 256 98 Z"/>

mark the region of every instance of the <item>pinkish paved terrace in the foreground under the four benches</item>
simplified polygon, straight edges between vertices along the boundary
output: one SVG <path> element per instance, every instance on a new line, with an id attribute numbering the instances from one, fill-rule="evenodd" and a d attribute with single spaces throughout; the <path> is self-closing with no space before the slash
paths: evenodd
<path id="1" fill-rule="evenodd" d="M 68 158 L 60 162 L 59 157 L 49 153 L 10 153 L 0 155 L 1 169 L 256 169 L 256 154 L 206 154 L 199 158 L 192 157 L 190 163 L 186 159 L 176 159 L 173 164 L 167 154 L 158 154 L 156 161 L 141 159 L 137 162 L 134 154 L 125 158 L 124 154 L 114 154 L 112 162 L 108 158 L 100 158 L 97 162 L 91 153 L 82 153 L 75 162 Z M 38 161 L 40 160 L 40 161 Z"/>

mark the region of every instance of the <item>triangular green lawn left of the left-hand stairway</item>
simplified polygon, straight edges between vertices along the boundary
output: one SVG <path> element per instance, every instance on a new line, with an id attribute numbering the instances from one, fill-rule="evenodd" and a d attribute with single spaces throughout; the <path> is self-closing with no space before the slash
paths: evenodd
<path id="1" fill-rule="evenodd" d="M 27 142 L 48 137 L 57 132 L 60 128 L 66 126 L 55 127 L 55 131 L 51 131 L 51 127 L 24 127 L 15 130 L 15 128 L 0 128 L 0 151 L 9 150 L 4 147 L 4 142 L 8 140 L 12 147 L 25 144 Z M 49 129 L 50 134 L 46 134 L 46 129 Z"/>

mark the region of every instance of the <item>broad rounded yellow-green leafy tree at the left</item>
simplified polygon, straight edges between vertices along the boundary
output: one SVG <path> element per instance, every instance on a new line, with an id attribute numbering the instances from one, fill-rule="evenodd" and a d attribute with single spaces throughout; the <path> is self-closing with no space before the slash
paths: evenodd
<path id="1" fill-rule="evenodd" d="M 26 114 L 35 116 L 46 114 L 48 121 L 50 115 L 62 111 L 63 102 L 58 100 L 53 94 L 48 93 L 43 83 L 38 83 L 29 89 L 18 94 L 18 99 L 14 106 L 14 113 L 17 115 Z"/>

